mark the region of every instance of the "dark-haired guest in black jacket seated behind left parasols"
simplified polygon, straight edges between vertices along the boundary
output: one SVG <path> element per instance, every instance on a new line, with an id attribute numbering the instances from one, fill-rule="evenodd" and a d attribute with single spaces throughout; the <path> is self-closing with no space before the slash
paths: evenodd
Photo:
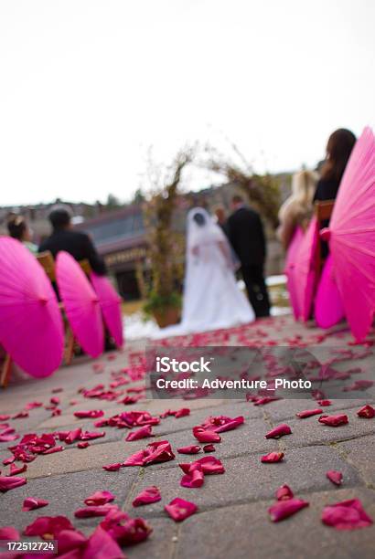
<path id="1" fill-rule="evenodd" d="M 39 247 L 39 252 L 49 250 L 56 257 L 59 250 L 66 250 L 76 260 L 88 259 L 91 269 L 99 275 L 106 273 L 105 264 L 99 256 L 91 238 L 71 227 L 70 210 L 67 206 L 54 206 L 48 216 L 52 234 Z"/>

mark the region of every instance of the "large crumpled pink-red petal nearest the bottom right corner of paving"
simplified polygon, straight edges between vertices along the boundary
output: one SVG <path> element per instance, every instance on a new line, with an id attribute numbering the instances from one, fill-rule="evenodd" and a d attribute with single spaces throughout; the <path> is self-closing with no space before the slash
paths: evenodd
<path id="1" fill-rule="evenodd" d="M 359 499 L 327 505 L 322 512 L 322 522 L 336 530 L 357 530 L 372 524 L 372 519 L 364 511 Z"/>

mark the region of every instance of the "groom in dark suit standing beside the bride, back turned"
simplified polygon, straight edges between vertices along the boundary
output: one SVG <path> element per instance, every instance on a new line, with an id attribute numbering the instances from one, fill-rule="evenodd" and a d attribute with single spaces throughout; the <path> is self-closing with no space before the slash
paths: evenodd
<path id="1" fill-rule="evenodd" d="M 242 277 L 255 315 L 269 316 L 270 301 L 263 277 L 266 244 L 261 217 L 244 205 L 240 195 L 234 195 L 231 202 L 233 213 L 228 219 L 230 244 L 240 259 Z"/>

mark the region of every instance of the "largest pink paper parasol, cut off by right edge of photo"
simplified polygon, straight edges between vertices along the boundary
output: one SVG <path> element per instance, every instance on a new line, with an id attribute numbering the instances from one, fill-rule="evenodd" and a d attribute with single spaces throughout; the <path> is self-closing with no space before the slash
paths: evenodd
<path id="1" fill-rule="evenodd" d="M 358 341 L 370 332 L 375 311 L 375 137 L 365 128 L 350 155 L 329 229 L 338 290 Z"/>

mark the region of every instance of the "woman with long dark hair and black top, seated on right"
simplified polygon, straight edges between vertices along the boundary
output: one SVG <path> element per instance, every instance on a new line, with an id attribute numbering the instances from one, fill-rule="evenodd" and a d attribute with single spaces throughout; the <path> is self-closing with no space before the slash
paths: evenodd
<path id="1" fill-rule="evenodd" d="M 356 136 L 346 128 L 339 128 L 329 136 L 326 162 L 322 166 L 322 175 L 316 186 L 314 202 L 335 200 L 355 142 Z"/>

